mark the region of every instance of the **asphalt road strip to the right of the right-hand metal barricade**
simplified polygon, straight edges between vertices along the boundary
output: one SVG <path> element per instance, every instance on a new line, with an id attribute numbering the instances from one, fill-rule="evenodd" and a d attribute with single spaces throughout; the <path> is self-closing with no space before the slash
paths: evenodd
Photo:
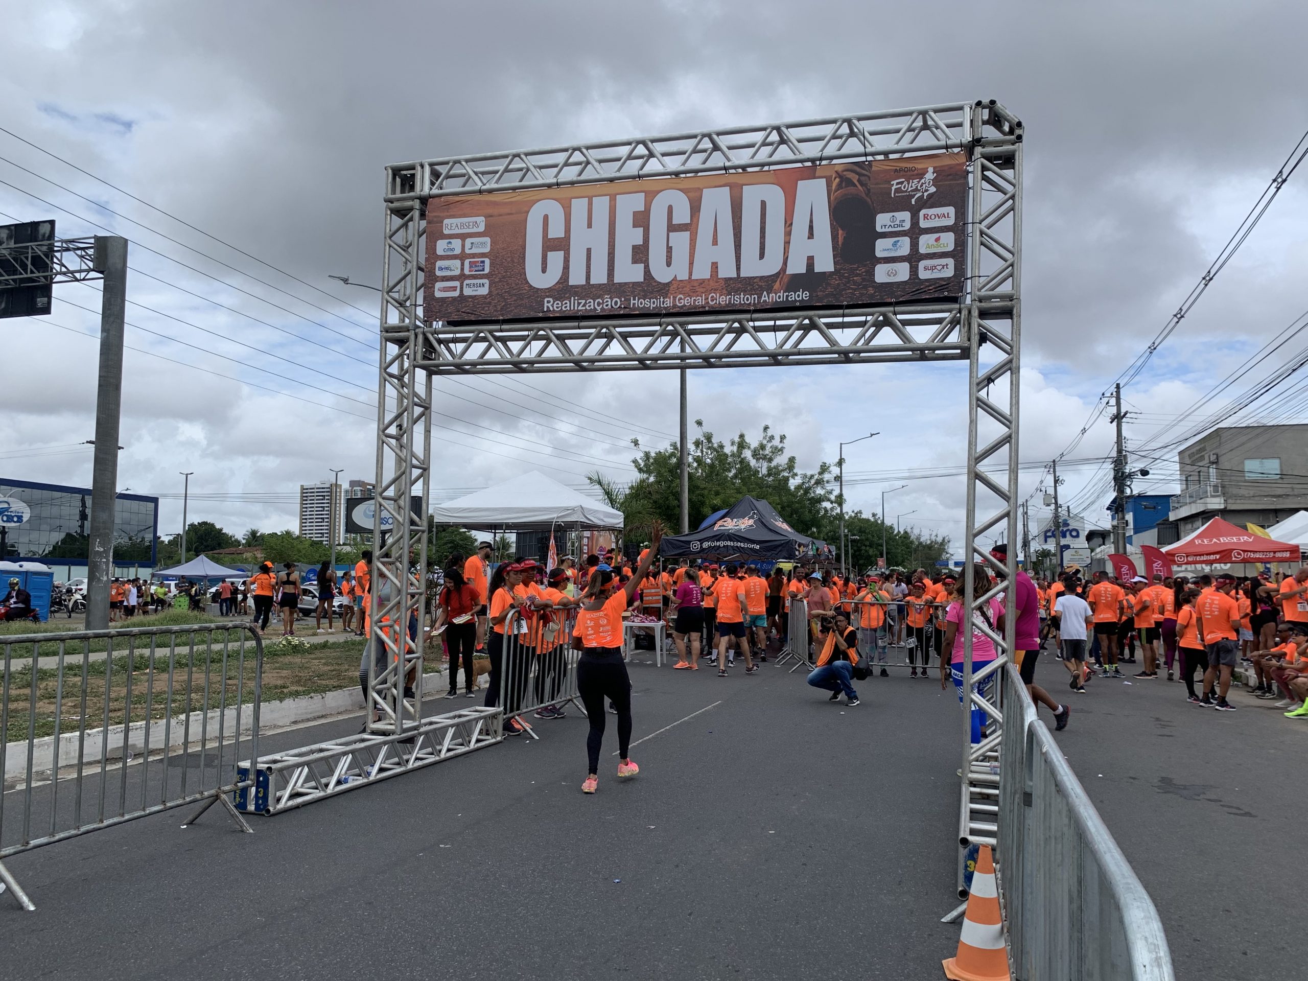
<path id="1" fill-rule="evenodd" d="M 1177 978 L 1303 978 L 1303 852 L 1288 842 L 1308 814 L 1308 719 L 1235 688 L 1236 712 L 1199 708 L 1180 681 L 1070 695 L 1048 654 L 1042 679 L 1071 701 L 1059 746 L 1154 897 Z"/>

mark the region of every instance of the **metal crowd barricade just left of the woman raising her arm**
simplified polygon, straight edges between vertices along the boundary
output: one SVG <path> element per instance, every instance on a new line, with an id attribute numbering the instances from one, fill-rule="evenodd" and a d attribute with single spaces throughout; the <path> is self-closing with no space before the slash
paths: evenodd
<path id="1" fill-rule="evenodd" d="M 577 610 L 538 610 L 534 616 L 513 610 L 505 617 L 498 693 L 505 725 L 511 718 L 521 719 L 547 706 L 562 709 L 572 702 L 578 710 L 585 710 L 577 691 L 581 651 L 572 647 Z M 540 738 L 530 723 L 527 734 L 532 739 Z"/>

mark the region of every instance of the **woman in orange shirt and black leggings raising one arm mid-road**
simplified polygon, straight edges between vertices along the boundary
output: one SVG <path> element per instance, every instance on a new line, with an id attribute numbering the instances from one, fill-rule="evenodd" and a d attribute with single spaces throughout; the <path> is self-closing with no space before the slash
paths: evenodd
<path id="1" fill-rule="evenodd" d="M 634 777 L 641 768 L 627 755 L 632 744 L 632 681 L 623 661 L 623 611 L 636 595 L 638 583 L 658 556 L 662 532 L 655 526 L 649 551 L 636 574 L 621 589 L 613 589 L 611 569 L 598 569 L 586 583 L 586 598 L 577 613 L 573 628 L 573 649 L 581 651 L 577 661 L 577 692 L 586 706 L 590 732 L 586 735 L 586 755 L 590 769 L 581 785 L 583 794 L 594 794 L 599 786 L 599 749 L 604 742 L 604 700 L 617 710 L 617 776 Z"/>

